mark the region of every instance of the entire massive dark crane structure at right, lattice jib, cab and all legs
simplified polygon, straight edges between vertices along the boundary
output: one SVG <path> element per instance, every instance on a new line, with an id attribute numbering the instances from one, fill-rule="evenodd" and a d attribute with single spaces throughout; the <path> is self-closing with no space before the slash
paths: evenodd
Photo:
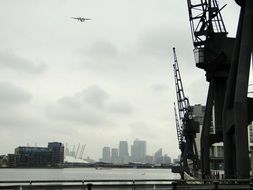
<path id="1" fill-rule="evenodd" d="M 247 97 L 253 47 L 253 1 L 241 6 L 236 38 L 227 37 L 216 0 L 187 0 L 196 66 L 205 70 L 209 90 L 201 134 L 202 178 L 210 172 L 210 147 L 224 144 L 226 178 L 249 178 L 247 127 L 253 101 Z M 231 48 L 233 47 L 233 48 Z M 214 113 L 215 133 L 210 134 Z"/>

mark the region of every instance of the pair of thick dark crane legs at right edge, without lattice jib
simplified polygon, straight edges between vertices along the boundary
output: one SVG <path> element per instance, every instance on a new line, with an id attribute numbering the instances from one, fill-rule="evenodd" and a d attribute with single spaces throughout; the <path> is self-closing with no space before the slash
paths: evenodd
<path id="1" fill-rule="evenodd" d="M 253 1 L 241 6 L 223 109 L 225 174 L 249 178 L 248 125 L 253 121 L 253 99 L 247 97 L 253 49 Z M 233 146 L 229 146 L 229 145 Z"/>

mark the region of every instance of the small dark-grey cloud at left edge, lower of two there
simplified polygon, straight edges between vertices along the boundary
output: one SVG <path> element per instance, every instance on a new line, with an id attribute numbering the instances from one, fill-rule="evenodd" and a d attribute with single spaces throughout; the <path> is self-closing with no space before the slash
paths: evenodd
<path id="1" fill-rule="evenodd" d="M 23 104 L 28 103 L 32 95 L 19 86 L 10 82 L 0 82 L 0 103 L 1 104 Z"/>

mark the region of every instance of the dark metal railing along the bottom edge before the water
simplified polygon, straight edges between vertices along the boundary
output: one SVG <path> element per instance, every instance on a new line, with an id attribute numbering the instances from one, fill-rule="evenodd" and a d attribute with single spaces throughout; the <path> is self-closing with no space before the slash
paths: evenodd
<path id="1" fill-rule="evenodd" d="M 0 181 L 0 189 L 253 189 L 253 179 L 8 180 Z"/>

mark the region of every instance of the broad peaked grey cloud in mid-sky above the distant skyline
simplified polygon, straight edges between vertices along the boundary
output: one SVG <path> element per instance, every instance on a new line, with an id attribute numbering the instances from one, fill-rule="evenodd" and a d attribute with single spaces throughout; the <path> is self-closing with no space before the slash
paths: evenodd
<path id="1" fill-rule="evenodd" d="M 51 119 L 85 126 L 114 126 L 114 114 L 128 115 L 132 106 L 114 100 L 103 88 L 91 85 L 74 96 L 63 97 L 46 109 Z"/>

